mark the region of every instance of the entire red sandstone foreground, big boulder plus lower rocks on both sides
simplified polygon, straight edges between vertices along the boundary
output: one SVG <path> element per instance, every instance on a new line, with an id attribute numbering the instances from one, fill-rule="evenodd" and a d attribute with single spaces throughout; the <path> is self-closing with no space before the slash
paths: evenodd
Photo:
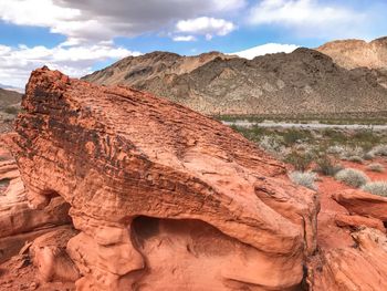
<path id="1" fill-rule="evenodd" d="M 19 168 L 0 145 L 4 290 L 387 289 L 387 198 L 326 177 L 317 196 L 231 128 L 127 87 L 43 67 L 22 105 L 3 138 Z"/>

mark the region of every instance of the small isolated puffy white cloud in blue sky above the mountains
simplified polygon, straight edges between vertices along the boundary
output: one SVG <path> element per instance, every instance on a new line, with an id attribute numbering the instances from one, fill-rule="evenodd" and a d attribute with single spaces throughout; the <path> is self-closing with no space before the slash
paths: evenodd
<path id="1" fill-rule="evenodd" d="M 176 24 L 176 32 L 201 34 L 207 40 L 212 39 L 213 35 L 227 35 L 236 29 L 231 21 L 208 17 L 180 20 Z"/>

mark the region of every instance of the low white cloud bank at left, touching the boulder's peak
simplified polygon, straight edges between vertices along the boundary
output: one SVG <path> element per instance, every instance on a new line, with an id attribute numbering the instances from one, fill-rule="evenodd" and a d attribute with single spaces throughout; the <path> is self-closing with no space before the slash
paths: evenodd
<path id="1" fill-rule="evenodd" d="M 107 43 L 70 48 L 59 45 L 52 49 L 25 45 L 10 48 L 0 44 L 0 80 L 1 83 L 22 87 L 31 71 L 43 65 L 79 77 L 93 72 L 92 67 L 97 62 L 139 54 Z"/>

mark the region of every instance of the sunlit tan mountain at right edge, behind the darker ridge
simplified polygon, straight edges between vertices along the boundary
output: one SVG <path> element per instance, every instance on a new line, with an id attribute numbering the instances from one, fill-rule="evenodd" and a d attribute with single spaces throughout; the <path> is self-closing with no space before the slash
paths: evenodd
<path id="1" fill-rule="evenodd" d="M 372 42 L 341 40 L 325 43 L 316 49 L 330 55 L 335 63 L 346 69 L 387 69 L 387 37 Z"/>

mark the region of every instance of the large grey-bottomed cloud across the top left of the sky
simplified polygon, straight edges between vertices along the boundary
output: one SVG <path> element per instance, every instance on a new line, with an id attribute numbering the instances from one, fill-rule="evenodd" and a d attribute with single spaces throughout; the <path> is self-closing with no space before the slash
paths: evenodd
<path id="1" fill-rule="evenodd" d="M 69 43 L 134 37 L 187 18 L 242 8 L 245 0 L 1 0 L 0 20 L 49 28 Z"/>

